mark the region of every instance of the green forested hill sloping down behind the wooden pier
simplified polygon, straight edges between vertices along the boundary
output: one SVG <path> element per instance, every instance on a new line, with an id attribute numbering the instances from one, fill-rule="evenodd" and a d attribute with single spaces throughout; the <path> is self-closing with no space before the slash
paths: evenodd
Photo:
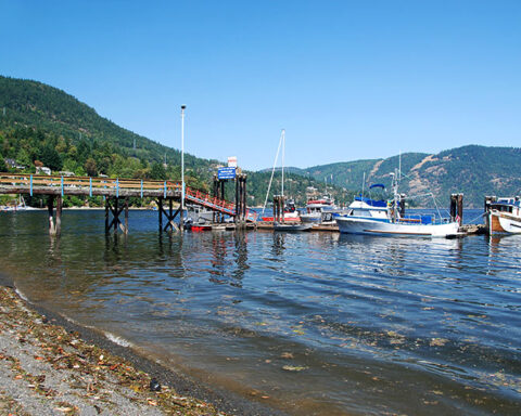
<path id="1" fill-rule="evenodd" d="M 0 76 L 0 171 L 8 169 L 5 159 L 18 165 L 11 169 L 13 172 L 35 172 L 37 166 L 46 166 L 53 172 L 77 176 L 180 180 L 178 150 L 120 128 L 62 90 Z M 213 173 L 223 165 L 189 154 L 185 155 L 185 162 L 187 183 L 206 191 Z M 262 205 L 269 174 L 247 173 L 247 203 Z M 272 192 L 280 190 L 278 180 Z M 326 191 L 322 182 L 295 174 L 288 176 L 285 185 L 289 196 L 300 204 L 305 202 L 307 186 Z M 233 190 L 228 187 L 227 197 L 231 199 Z M 329 191 L 339 200 L 351 199 L 341 188 Z M 74 204 L 81 202 L 76 198 Z"/>

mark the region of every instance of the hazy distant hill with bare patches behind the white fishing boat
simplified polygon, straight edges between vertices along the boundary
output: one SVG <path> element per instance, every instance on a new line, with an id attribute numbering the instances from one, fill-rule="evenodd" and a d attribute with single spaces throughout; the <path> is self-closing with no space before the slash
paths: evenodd
<path id="1" fill-rule="evenodd" d="M 332 180 L 336 185 L 356 190 L 366 173 L 366 188 L 371 183 L 391 184 L 391 172 L 399 166 L 399 157 L 356 160 L 296 170 L 317 180 Z M 452 193 L 462 192 L 466 206 L 482 207 L 485 195 L 521 194 L 521 150 L 469 145 L 435 155 L 402 155 L 401 192 L 419 196 L 432 192 L 442 206 Z M 418 197 L 420 205 L 432 206 L 429 197 Z"/>

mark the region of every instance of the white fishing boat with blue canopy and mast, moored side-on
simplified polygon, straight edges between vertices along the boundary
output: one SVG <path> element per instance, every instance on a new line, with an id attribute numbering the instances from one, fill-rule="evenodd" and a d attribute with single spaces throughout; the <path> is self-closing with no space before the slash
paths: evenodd
<path id="1" fill-rule="evenodd" d="M 374 200 L 360 195 L 344 214 L 333 217 L 341 233 L 380 236 L 452 237 L 459 223 L 434 216 L 405 214 L 405 195 L 398 194 L 398 173 L 393 177 L 393 199 Z"/>

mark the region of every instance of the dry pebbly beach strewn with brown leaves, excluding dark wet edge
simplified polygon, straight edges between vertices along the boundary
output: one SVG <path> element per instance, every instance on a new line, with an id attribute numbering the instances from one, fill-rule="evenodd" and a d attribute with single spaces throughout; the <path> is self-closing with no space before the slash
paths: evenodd
<path id="1" fill-rule="evenodd" d="M 0 287 L 0 315 L 1 414 L 225 415 L 52 324 L 12 288 Z"/>

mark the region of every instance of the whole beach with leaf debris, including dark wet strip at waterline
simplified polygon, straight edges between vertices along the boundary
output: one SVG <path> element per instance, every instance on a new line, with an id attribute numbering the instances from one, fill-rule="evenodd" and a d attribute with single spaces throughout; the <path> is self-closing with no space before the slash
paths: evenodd
<path id="1" fill-rule="evenodd" d="M 195 382 L 96 330 L 26 302 L 2 274 L 0 315 L 2 414 L 281 414 Z"/>

